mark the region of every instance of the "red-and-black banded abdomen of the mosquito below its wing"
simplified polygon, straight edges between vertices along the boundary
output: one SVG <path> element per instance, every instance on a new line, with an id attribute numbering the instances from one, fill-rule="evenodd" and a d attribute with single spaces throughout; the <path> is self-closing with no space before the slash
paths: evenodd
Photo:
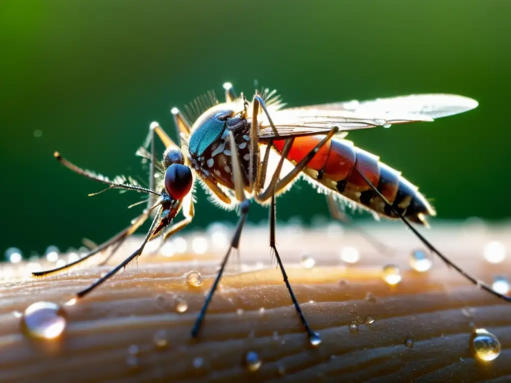
<path id="1" fill-rule="evenodd" d="M 324 135 L 296 137 L 287 159 L 298 163 L 323 138 Z M 273 146 L 282 152 L 284 142 L 276 140 Z M 425 224 L 425 216 L 435 215 L 434 209 L 416 186 L 401 177 L 400 172 L 381 163 L 379 157 L 354 147 L 351 141 L 333 138 L 327 142 L 309 162 L 305 173 L 329 189 L 382 216 L 397 218 L 390 206 L 360 176 L 362 173 L 409 220 Z"/>

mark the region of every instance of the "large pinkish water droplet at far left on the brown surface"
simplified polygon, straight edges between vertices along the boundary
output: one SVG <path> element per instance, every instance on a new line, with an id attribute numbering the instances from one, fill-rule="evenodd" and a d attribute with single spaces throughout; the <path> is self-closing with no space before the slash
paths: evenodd
<path id="1" fill-rule="evenodd" d="M 61 306 L 53 302 L 32 303 L 25 309 L 20 325 L 26 336 L 55 339 L 67 325 L 66 313 Z"/>

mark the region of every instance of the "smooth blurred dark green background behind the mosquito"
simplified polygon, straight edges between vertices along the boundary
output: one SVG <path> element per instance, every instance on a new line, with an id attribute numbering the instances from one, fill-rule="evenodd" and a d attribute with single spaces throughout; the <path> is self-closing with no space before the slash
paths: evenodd
<path id="1" fill-rule="evenodd" d="M 65 249 L 125 227 L 141 196 L 89 198 L 101 185 L 53 152 L 108 176 L 144 176 L 134 152 L 152 121 L 173 133 L 172 106 L 209 89 L 220 97 L 225 81 L 251 94 L 254 79 L 293 106 L 419 92 L 478 100 L 432 124 L 349 137 L 419 185 L 439 218 L 507 219 L 509 14 L 503 0 L 3 0 L 1 245 Z M 197 198 L 192 228 L 236 220 L 202 190 Z M 326 203 L 307 184 L 278 201 L 281 220 L 315 214 Z M 251 221 L 266 217 L 251 210 Z"/>

